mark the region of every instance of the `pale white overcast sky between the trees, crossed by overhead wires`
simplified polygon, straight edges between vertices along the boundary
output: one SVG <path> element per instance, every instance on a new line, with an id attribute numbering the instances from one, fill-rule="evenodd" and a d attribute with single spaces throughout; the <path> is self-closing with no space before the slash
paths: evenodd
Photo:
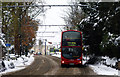
<path id="1" fill-rule="evenodd" d="M 44 0 L 46 4 L 49 5 L 64 5 L 68 4 L 68 0 Z M 69 0 L 70 1 L 70 0 Z M 37 16 L 36 19 L 40 19 L 44 25 L 65 25 L 64 20 L 61 18 L 65 13 L 63 10 L 66 10 L 68 7 L 51 7 L 45 12 L 45 16 Z M 58 26 L 47 26 L 39 27 L 38 31 L 48 32 L 48 31 L 57 31 L 58 33 L 37 33 L 37 40 L 47 39 L 48 42 L 59 43 L 61 41 L 61 29 L 63 27 Z M 39 37 L 39 36 L 54 36 L 54 37 Z M 38 41 L 37 41 L 38 44 Z"/>

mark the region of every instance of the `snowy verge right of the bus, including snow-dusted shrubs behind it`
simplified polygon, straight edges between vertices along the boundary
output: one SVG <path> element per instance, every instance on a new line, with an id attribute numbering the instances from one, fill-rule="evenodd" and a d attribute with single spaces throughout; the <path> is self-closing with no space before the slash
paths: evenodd
<path id="1" fill-rule="evenodd" d="M 113 68 L 113 66 L 116 66 L 116 62 L 117 59 L 115 57 L 109 58 L 107 56 L 101 56 L 98 58 L 98 61 L 95 64 L 88 64 L 88 66 L 98 75 L 118 76 L 118 70 L 116 68 Z"/>

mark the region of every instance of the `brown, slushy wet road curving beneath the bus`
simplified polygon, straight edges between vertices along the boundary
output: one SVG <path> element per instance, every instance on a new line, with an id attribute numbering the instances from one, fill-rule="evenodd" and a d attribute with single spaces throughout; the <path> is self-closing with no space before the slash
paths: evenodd
<path id="1" fill-rule="evenodd" d="M 29 75 L 31 76 L 38 76 L 38 75 L 63 75 L 63 76 L 84 76 L 84 77 L 93 77 L 97 76 L 96 73 L 93 72 L 91 68 L 88 66 L 69 66 L 69 67 L 64 67 L 62 68 L 60 66 L 60 59 L 57 57 L 52 57 L 52 56 L 42 56 L 42 55 L 37 55 L 35 56 L 35 61 L 28 66 L 27 68 L 9 73 L 7 75 Z M 101 77 L 101 76 L 98 76 Z M 102 77 L 107 77 L 107 76 L 102 76 Z M 110 76 L 113 77 L 113 76 Z"/>

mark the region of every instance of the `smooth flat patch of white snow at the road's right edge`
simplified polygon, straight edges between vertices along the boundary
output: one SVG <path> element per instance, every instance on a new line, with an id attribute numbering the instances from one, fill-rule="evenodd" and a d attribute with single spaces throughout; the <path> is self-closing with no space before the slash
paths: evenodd
<path id="1" fill-rule="evenodd" d="M 99 75 L 118 75 L 118 70 L 103 64 L 89 65 Z"/>

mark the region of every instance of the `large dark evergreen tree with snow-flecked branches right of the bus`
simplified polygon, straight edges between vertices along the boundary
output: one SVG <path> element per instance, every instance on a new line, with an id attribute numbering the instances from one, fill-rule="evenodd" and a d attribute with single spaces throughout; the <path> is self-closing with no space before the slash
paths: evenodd
<path id="1" fill-rule="evenodd" d="M 80 25 L 82 26 L 86 45 L 90 46 L 90 52 L 96 55 L 104 54 L 118 57 L 118 46 L 114 45 L 114 41 L 120 34 L 118 18 L 120 3 L 96 2 L 81 4 L 87 5 L 87 8 L 82 9 L 88 17 Z M 110 34 L 114 36 L 110 37 Z"/>

